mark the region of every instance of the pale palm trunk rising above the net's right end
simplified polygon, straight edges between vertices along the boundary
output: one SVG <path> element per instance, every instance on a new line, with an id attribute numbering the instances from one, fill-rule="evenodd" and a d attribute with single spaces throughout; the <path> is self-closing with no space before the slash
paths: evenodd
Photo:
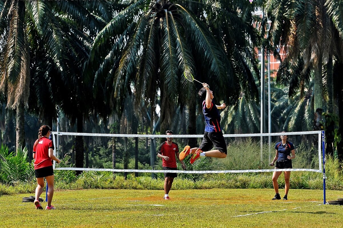
<path id="1" fill-rule="evenodd" d="M 321 59 L 321 58 L 320 58 Z M 323 83 L 322 83 L 322 63 L 319 61 L 315 69 L 315 119 L 314 130 L 322 130 L 322 112 L 323 112 Z"/>

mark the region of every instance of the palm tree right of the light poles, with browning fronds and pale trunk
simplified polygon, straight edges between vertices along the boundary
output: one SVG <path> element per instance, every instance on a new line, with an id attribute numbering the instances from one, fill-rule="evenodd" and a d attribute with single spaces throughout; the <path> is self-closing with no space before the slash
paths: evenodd
<path id="1" fill-rule="evenodd" d="M 278 72 L 278 77 L 287 78 L 287 69 L 291 65 L 301 68 L 293 79 L 298 85 L 292 84 L 290 94 L 295 93 L 294 89 L 306 87 L 305 80 L 309 82 L 306 75 L 308 70 L 314 71 L 314 111 L 324 109 L 323 104 L 323 66 L 332 61 L 334 53 L 334 29 L 339 26 L 331 20 L 327 13 L 325 0 L 290 1 L 270 0 L 267 2 L 268 16 L 271 20 L 270 37 L 273 45 L 283 46 L 287 57 L 283 60 Z M 342 26 L 343 28 L 343 26 Z M 298 64 L 299 63 L 299 64 Z M 330 65 L 329 65 L 330 66 Z M 332 72 L 332 71 L 330 71 Z M 293 72 L 292 72 L 293 73 Z M 285 75 L 286 74 L 286 75 Z M 332 76 L 330 73 L 329 76 Z M 321 114 L 321 113 L 320 113 Z"/>

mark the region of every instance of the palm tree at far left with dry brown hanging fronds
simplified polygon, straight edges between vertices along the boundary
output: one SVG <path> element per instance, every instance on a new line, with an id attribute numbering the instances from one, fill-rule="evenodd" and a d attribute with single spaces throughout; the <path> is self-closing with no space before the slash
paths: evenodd
<path id="1" fill-rule="evenodd" d="M 68 62 L 82 55 L 79 50 L 77 53 L 73 52 L 78 49 L 79 43 L 72 41 L 75 38 L 83 40 L 84 32 L 91 35 L 100 27 L 100 18 L 93 14 L 103 12 L 102 5 L 102 1 L 0 2 L 0 89 L 7 97 L 7 107 L 16 110 L 17 148 L 24 144 L 23 114 L 29 94 L 37 95 L 36 100 L 42 101 L 42 97 L 48 97 L 46 93 L 49 92 L 51 101 L 39 104 L 38 107 L 48 108 L 50 112 L 51 107 L 55 109 L 56 103 L 52 97 L 55 94 L 51 93 L 51 88 L 55 85 L 49 79 L 52 75 L 58 75 L 61 82 L 67 81 L 70 76 Z M 91 9 L 93 14 L 88 9 Z M 69 58 L 64 55 L 66 50 L 71 53 Z M 30 56 L 30 53 L 36 55 Z M 43 59 L 48 61 L 42 63 L 38 56 L 43 56 Z M 37 68 L 38 66 L 42 68 Z M 42 69 L 46 69 L 46 72 Z M 30 93 L 31 70 L 35 80 L 39 81 L 42 77 L 45 79 L 42 80 L 44 83 L 36 83 L 36 93 Z M 44 91 L 46 88 L 50 90 Z M 43 111 L 45 116 L 50 112 Z M 56 110 L 52 112 L 54 114 L 49 114 L 50 120 L 52 116 L 56 116 Z"/>

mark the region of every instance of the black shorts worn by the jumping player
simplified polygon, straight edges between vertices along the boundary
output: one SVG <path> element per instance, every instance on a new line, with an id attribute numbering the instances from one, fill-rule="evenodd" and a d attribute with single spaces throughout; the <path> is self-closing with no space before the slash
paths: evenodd
<path id="1" fill-rule="evenodd" d="M 199 148 L 202 151 L 209 151 L 213 148 L 213 146 L 220 152 L 227 154 L 223 132 L 205 132 Z"/>

